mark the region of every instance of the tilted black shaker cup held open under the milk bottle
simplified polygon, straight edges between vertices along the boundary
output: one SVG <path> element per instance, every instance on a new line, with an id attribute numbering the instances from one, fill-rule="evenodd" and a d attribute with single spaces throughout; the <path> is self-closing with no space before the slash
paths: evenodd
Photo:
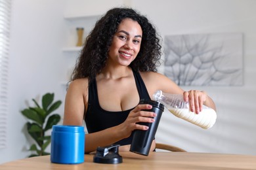
<path id="1" fill-rule="evenodd" d="M 154 137 L 156 135 L 156 130 L 158 129 L 158 124 L 161 119 L 161 114 L 163 113 L 164 106 L 158 101 L 152 101 L 150 99 L 141 99 L 139 104 L 149 104 L 152 105 L 152 109 L 146 110 L 150 112 L 155 112 L 157 114 L 154 117 L 155 122 L 147 123 L 140 122 L 141 125 L 148 126 L 147 130 L 135 130 L 133 131 L 133 141 L 131 142 L 131 152 L 135 152 L 137 154 L 142 154 L 144 156 L 148 156 L 150 152 L 150 147 Z"/>

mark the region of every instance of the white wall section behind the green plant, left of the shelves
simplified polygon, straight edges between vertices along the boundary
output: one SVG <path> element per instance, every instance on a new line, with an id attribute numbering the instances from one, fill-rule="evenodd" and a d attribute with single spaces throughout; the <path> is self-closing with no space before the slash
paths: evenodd
<path id="1" fill-rule="evenodd" d="M 26 119 L 20 110 L 28 103 L 34 106 L 32 98 L 41 99 L 46 92 L 54 92 L 55 99 L 64 98 L 59 84 L 64 26 L 64 4 L 60 2 L 12 1 L 7 148 L 0 150 L 0 162 L 30 155 L 24 136 Z"/>

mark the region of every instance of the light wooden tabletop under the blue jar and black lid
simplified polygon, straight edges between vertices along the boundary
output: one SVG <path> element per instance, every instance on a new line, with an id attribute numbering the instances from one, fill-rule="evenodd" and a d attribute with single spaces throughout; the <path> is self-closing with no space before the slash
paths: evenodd
<path id="1" fill-rule="evenodd" d="M 256 169 L 256 156 L 235 154 L 208 154 L 192 152 L 151 152 L 140 156 L 120 152 L 123 163 L 93 163 L 93 154 L 85 154 L 85 162 L 75 165 L 51 163 L 50 156 L 38 156 L 0 165 L 1 170 L 79 170 L 79 169 Z"/>

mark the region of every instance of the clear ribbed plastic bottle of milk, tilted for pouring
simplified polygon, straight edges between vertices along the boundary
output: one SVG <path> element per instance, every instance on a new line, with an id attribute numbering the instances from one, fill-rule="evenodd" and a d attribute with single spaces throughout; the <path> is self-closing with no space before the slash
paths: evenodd
<path id="1" fill-rule="evenodd" d="M 191 112 L 189 103 L 184 101 L 183 95 L 164 93 L 158 90 L 154 93 L 153 98 L 155 101 L 162 103 L 172 114 L 178 118 L 182 118 L 192 124 L 209 129 L 212 127 L 217 118 L 215 110 L 203 105 L 203 110 L 199 114 Z"/>

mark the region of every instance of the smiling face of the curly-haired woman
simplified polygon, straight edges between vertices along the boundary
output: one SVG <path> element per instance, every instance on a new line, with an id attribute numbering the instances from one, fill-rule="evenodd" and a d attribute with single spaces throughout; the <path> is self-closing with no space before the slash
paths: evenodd
<path id="1" fill-rule="evenodd" d="M 140 51 L 142 29 L 138 22 L 126 18 L 119 24 L 114 34 L 108 56 L 119 65 L 129 65 Z"/>

